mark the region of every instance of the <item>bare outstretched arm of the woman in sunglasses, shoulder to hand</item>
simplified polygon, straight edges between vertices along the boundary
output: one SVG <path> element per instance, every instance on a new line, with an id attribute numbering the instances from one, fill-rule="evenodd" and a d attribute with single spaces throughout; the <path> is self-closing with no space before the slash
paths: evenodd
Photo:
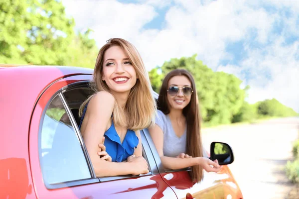
<path id="1" fill-rule="evenodd" d="M 201 165 L 206 171 L 218 171 L 218 162 L 213 162 L 205 157 L 191 157 L 191 158 L 172 158 L 164 156 L 163 154 L 163 131 L 155 124 L 154 127 L 149 128 L 149 134 L 161 158 L 162 165 L 165 169 L 183 169 L 194 165 Z M 213 165 L 215 168 L 211 168 Z"/>

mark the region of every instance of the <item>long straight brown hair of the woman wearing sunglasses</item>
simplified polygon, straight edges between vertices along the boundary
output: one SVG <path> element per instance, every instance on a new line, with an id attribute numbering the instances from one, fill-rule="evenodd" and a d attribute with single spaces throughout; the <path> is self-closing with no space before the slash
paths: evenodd
<path id="1" fill-rule="evenodd" d="M 157 100 L 158 109 L 161 110 L 165 115 L 170 113 L 167 100 L 168 81 L 174 76 L 185 76 L 191 82 L 193 94 L 191 100 L 186 107 L 183 109 L 183 115 L 187 122 L 187 142 L 186 142 L 186 153 L 192 157 L 202 157 L 203 149 L 201 142 L 200 132 L 200 111 L 197 98 L 197 92 L 195 88 L 195 82 L 192 75 L 184 69 L 175 69 L 170 71 L 164 78 L 159 97 Z M 203 179 L 202 167 L 196 165 L 192 166 L 192 170 L 189 173 L 193 182 L 200 182 Z"/>

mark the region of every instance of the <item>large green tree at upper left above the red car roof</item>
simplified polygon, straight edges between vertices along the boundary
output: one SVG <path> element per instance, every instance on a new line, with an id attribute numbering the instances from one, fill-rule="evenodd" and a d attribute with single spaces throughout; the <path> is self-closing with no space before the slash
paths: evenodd
<path id="1" fill-rule="evenodd" d="M 64 65 L 74 20 L 59 0 L 0 0 L 0 63 Z"/>

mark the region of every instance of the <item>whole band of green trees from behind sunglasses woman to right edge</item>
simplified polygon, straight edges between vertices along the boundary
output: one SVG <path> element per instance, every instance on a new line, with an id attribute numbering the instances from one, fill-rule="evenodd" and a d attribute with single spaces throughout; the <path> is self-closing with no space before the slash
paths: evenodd
<path id="1" fill-rule="evenodd" d="M 191 57 L 173 58 L 161 67 L 149 71 L 152 88 L 159 93 L 163 77 L 174 69 L 186 69 L 194 77 L 201 115 L 205 125 L 253 121 L 267 116 L 293 116 L 297 113 L 279 101 L 265 100 L 256 104 L 245 101 L 249 86 L 241 88 L 242 81 L 232 74 L 214 72 L 196 54 Z"/>

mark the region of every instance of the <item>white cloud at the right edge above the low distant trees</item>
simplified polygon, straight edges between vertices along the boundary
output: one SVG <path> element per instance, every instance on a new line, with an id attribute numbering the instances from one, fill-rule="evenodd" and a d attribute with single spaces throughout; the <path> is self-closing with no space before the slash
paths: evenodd
<path id="1" fill-rule="evenodd" d="M 250 85 L 249 102 L 276 98 L 299 112 L 299 41 L 285 46 L 280 37 L 272 45 L 249 53 L 240 66 L 220 66 L 217 70 L 245 80 Z"/>

